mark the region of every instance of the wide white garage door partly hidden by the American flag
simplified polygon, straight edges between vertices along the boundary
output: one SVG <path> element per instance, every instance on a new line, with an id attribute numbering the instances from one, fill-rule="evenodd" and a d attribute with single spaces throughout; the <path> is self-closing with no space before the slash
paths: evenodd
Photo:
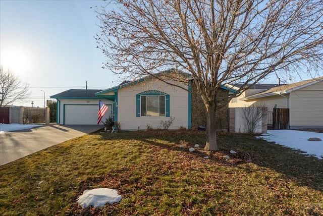
<path id="1" fill-rule="evenodd" d="M 109 118 L 112 113 L 111 105 L 109 110 L 105 113 L 102 118 L 104 122 L 105 119 Z M 97 123 L 97 111 L 98 105 L 92 104 L 65 104 L 65 115 L 64 124 L 65 125 L 96 125 Z"/>

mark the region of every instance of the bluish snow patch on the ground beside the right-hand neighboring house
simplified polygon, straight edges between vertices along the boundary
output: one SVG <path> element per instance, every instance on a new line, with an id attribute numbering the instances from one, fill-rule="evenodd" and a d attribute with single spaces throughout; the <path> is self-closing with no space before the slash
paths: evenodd
<path id="1" fill-rule="evenodd" d="M 323 133 L 296 131 L 296 130 L 268 130 L 262 138 L 269 142 L 305 151 L 319 159 L 323 158 Z M 322 141 L 308 141 L 311 137 L 320 138 Z"/>

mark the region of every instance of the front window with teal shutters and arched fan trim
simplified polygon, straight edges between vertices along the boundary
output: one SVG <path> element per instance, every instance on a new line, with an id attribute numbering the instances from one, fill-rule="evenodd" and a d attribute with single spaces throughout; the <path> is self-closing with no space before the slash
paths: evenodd
<path id="1" fill-rule="evenodd" d="M 136 95 L 136 117 L 170 117 L 170 95 L 157 90 Z"/>

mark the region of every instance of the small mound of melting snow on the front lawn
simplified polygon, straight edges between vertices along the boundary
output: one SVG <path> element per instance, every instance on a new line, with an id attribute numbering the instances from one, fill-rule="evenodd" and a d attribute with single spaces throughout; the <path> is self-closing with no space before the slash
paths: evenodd
<path id="1" fill-rule="evenodd" d="M 118 191 L 110 188 L 96 188 L 92 190 L 85 190 L 83 194 L 77 199 L 79 205 L 87 208 L 89 205 L 96 207 L 103 207 L 105 203 L 113 204 L 120 202 L 122 196 Z"/>

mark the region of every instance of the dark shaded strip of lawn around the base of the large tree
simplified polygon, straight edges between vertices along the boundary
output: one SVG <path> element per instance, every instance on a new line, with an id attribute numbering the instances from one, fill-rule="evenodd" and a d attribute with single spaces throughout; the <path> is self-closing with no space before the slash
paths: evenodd
<path id="1" fill-rule="evenodd" d="M 307 186 L 314 190 L 323 191 L 323 160 L 314 156 L 303 154 L 304 152 L 291 149 L 285 146 L 267 142 L 256 138 L 253 134 L 218 133 L 218 152 L 205 152 L 203 147 L 206 141 L 206 133 L 200 131 L 141 131 L 120 134 L 102 134 L 103 139 L 136 139 L 150 145 L 165 148 L 170 151 L 181 151 L 187 154 L 194 154 L 197 157 L 210 155 L 208 160 L 214 166 L 238 166 L 245 163 L 275 170 L 282 173 L 290 181 L 300 186 Z M 159 142 L 156 140 L 163 140 Z M 179 147 L 182 142 L 188 143 L 184 148 Z M 173 143 L 173 144 L 172 144 Z M 194 144 L 200 145 L 196 151 L 189 152 L 189 147 Z M 231 154 L 233 160 L 226 161 L 222 155 L 230 154 L 230 150 L 237 154 Z M 212 156 L 218 153 L 221 156 Z"/>

